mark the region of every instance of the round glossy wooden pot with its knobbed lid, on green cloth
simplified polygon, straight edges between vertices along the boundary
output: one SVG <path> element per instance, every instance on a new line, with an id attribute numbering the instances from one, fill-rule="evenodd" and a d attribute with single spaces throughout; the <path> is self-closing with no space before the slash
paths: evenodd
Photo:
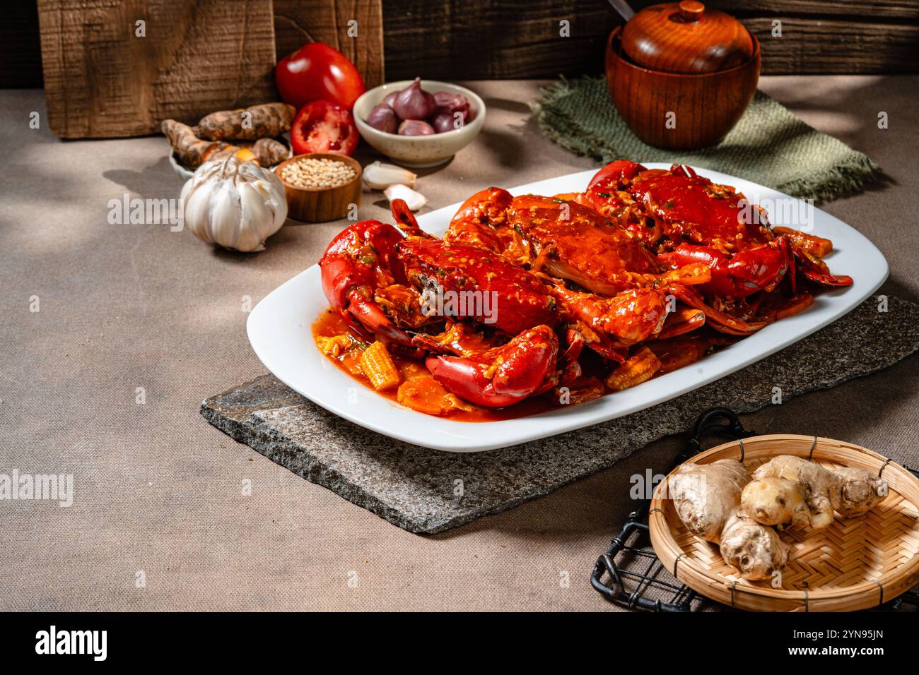
<path id="1" fill-rule="evenodd" d="M 607 41 L 609 94 L 642 141 L 696 150 L 721 141 L 750 104 L 759 41 L 696 0 L 642 9 Z"/>

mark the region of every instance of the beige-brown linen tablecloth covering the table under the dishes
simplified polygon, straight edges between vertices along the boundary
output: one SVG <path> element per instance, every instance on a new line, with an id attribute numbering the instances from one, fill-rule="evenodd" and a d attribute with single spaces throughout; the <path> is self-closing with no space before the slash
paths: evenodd
<path id="1" fill-rule="evenodd" d="M 539 133 L 527 103 L 542 84 L 470 84 L 488 105 L 485 129 L 447 167 L 423 172 L 430 208 L 592 165 Z M 889 174 L 825 208 L 887 256 L 881 292 L 919 300 L 919 77 L 764 78 L 762 88 Z M 448 533 L 403 532 L 234 443 L 198 411 L 265 372 L 244 305 L 315 263 L 342 223 L 289 222 L 256 255 L 162 225 L 111 225 L 108 201 L 125 192 L 177 197 L 165 139 L 58 141 L 40 91 L 0 92 L 0 111 L 0 473 L 74 476 L 69 508 L 0 501 L 0 609 L 610 608 L 588 573 L 633 508 L 630 476 L 664 470 L 678 439 Z M 29 128 L 33 111 L 40 129 Z M 385 207 L 374 193 L 360 215 L 385 218 Z M 913 356 L 744 423 L 917 466 L 917 375 Z"/>

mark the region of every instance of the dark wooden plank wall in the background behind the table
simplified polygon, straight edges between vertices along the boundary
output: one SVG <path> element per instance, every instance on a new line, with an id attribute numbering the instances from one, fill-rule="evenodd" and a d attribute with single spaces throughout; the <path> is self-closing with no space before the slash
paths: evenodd
<path id="1" fill-rule="evenodd" d="M 358 0 L 359 2 L 359 0 Z M 633 7 L 654 4 L 632 0 Z M 6 6 L 0 86 L 40 87 L 34 0 Z M 709 0 L 763 43 L 763 73 L 919 72 L 919 0 Z M 446 80 L 599 73 L 606 0 L 383 0 L 385 76 Z M 559 37 L 559 22 L 571 37 Z M 782 22 L 782 37 L 771 35 Z"/>

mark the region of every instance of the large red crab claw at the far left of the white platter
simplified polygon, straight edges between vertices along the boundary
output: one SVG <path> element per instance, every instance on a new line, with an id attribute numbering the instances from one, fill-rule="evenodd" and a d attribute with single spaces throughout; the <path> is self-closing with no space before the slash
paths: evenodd
<path id="1" fill-rule="evenodd" d="M 374 299 L 380 280 L 391 275 L 397 263 L 396 243 L 401 241 L 403 236 L 391 225 L 363 220 L 338 233 L 319 267 L 325 298 L 352 330 L 367 340 L 380 336 L 411 347 L 411 336 L 392 323 Z"/>

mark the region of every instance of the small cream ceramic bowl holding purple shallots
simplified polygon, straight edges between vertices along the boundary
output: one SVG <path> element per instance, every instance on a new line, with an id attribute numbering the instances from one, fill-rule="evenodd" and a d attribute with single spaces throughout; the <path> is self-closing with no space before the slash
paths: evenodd
<path id="1" fill-rule="evenodd" d="M 380 86 L 370 89 L 369 92 L 365 92 L 355 101 L 353 109 L 354 120 L 364 141 L 369 142 L 370 145 L 394 162 L 413 167 L 437 166 L 437 164 L 447 162 L 454 154 L 469 145 L 479 135 L 479 131 L 482 130 L 482 125 L 485 123 L 485 103 L 475 92 L 471 92 L 469 89 L 457 84 L 437 82 L 436 80 L 422 80 L 421 88 L 430 94 L 449 92 L 450 94 L 466 96 L 471 106 L 475 109 L 475 117 L 472 118 L 472 121 L 462 129 L 445 131 L 444 133 L 436 133 L 430 136 L 399 136 L 398 134 L 374 129 L 364 121 L 367 119 L 370 110 L 378 103 L 382 103 L 386 96 L 389 96 L 392 92 L 401 91 L 412 82 L 412 80 L 402 80 L 401 82 L 380 84 Z"/>

